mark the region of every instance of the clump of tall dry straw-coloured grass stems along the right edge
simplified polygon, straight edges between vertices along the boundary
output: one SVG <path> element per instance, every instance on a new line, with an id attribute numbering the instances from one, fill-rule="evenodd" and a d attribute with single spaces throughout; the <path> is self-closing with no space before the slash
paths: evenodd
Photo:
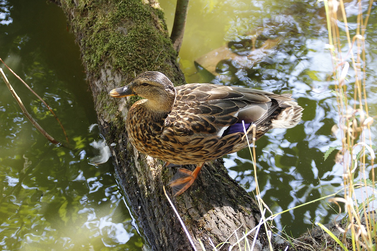
<path id="1" fill-rule="evenodd" d="M 348 225 L 342 230 L 342 248 L 347 250 L 375 250 L 375 211 L 368 213 L 370 205 L 368 190 L 363 202 L 357 203 L 355 184 L 375 189 L 374 159 L 372 149 L 371 124 L 373 117 L 369 116 L 367 91 L 366 91 L 366 60 L 365 60 L 365 31 L 373 1 L 369 1 L 366 15 L 362 13 L 362 2 L 358 1 L 359 14 L 357 15 L 356 29 L 349 30 L 346 10 L 343 1 L 324 1 L 326 17 L 328 21 L 329 44 L 331 48 L 335 89 L 337 92 L 337 108 L 339 112 L 339 124 L 342 141 L 343 164 L 343 198 L 333 199 L 333 202 L 342 202 L 345 205 Z M 344 23 L 344 29 L 338 27 L 338 9 Z M 354 33 L 351 36 L 351 33 Z M 341 35 L 342 34 L 342 35 Z M 346 37 L 345 45 L 341 37 Z M 348 47 L 346 55 L 343 55 L 343 47 Z M 350 64 L 353 75 L 349 72 Z M 347 76 L 351 75 L 354 83 L 346 83 Z M 352 93 L 353 92 L 353 93 Z M 352 95 L 353 94 L 353 95 Z M 348 98 L 352 96 L 353 98 Z M 369 167 L 369 168 L 368 168 Z M 368 174 L 368 169 L 370 174 Z M 369 182 L 369 177 L 371 181 Z M 359 179 L 358 182 L 355 180 Z M 362 220 L 363 218 L 363 220 Z M 364 223 L 365 221 L 365 223 Z M 340 230 L 340 228 L 339 228 Z"/>

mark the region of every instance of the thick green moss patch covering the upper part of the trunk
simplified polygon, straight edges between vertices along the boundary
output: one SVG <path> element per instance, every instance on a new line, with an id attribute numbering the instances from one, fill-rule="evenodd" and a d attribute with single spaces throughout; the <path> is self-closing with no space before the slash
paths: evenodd
<path id="1" fill-rule="evenodd" d="M 106 57 L 112 66 L 126 74 L 160 70 L 173 78 L 176 69 L 173 71 L 169 63 L 177 55 L 162 10 L 139 0 L 103 3 L 80 1 L 71 20 L 72 29 L 82 35 L 79 43 L 87 71 L 98 72 Z M 72 1 L 66 1 L 66 6 L 72 8 L 72 5 Z"/>

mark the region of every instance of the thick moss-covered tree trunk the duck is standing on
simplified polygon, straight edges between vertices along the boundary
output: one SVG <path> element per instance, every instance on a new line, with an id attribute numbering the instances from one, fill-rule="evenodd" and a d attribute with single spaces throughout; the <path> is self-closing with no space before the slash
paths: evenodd
<path id="1" fill-rule="evenodd" d="M 115 143 L 110 149 L 119 185 L 144 232 L 146 244 L 153 250 L 191 250 L 162 190 L 176 168 L 164 168 L 161 161 L 133 148 L 124 124 L 133 101 L 114 99 L 108 94 L 146 70 L 163 72 L 175 84 L 185 83 L 158 2 L 52 1 L 67 15 L 80 46 L 101 133 L 108 145 Z M 228 176 L 221 160 L 206 164 L 198 180 L 174 203 L 196 246 L 199 248 L 200 239 L 207 250 L 212 250 L 208 237 L 217 245 L 236 229 L 242 236 L 242 231 L 255 227 L 260 219 L 255 202 Z M 235 240 L 233 234 L 230 242 Z M 223 250 L 228 250 L 227 246 Z M 262 230 L 254 250 L 264 246 Z"/>

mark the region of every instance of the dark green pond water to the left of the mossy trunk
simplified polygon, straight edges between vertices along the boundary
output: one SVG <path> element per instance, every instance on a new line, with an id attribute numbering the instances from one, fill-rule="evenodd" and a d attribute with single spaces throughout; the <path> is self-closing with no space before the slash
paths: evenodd
<path id="1" fill-rule="evenodd" d="M 75 147 L 49 144 L 0 84 L 0 249 L 141 250 L 113 165 L 89 164 L 102 138 L 88 131 L 97 119 L 63 12 L 44 0 L 0 6 L 0 57 L 54 109 Z M 4 71 L 32 116 L 64 141 L 48 109 Z"/>

